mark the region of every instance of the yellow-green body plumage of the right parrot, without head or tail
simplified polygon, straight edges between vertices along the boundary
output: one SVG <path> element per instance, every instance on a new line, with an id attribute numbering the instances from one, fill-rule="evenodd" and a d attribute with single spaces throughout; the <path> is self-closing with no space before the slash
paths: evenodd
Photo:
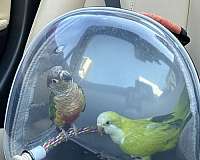
<path id="1" fill-rule="evenodd" d="M 122 150 L 129 155 L 149 156 L 175 147 L 179 130 L 169 124 L 148 120 L 126 122 Z"/>

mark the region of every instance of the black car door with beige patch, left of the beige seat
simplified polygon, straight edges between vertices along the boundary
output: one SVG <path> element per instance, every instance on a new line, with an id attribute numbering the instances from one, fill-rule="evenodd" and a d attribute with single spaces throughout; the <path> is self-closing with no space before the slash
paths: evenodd
<path id="1" fill-rule="evenodd" d="M 0 0 L 0 127 L 40 0 Z"/>

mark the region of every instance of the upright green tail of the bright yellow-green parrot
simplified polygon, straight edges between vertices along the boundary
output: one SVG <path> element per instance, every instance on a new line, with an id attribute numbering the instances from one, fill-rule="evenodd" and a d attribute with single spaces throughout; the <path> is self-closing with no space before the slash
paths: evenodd
<path id="1" fill-rule="evenodd" d="M 190 99 L 186 86 L 184 87 L 181 96 L 179 98 L 179 101 L 175 106 L 173 115 L 174 115 L 173 121 L 181 122 L 181 128 L 184 128 L 186 123 L 192 117 L 192 113 L 190 111 Z"/>

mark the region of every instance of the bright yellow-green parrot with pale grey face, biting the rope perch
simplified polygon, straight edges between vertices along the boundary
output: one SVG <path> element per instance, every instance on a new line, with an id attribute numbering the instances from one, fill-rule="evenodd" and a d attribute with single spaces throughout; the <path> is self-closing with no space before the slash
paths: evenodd
<path id="1" fill-rule="evenodd" d="M 133 120 L 107 111 L 98 116 L 97 127 L 108 134 L 124 153 L 150 160 L 151 155 L 176 146 L 190 118 L 190 101 L 184 88 L 174 112 L 170 114 Z"/>

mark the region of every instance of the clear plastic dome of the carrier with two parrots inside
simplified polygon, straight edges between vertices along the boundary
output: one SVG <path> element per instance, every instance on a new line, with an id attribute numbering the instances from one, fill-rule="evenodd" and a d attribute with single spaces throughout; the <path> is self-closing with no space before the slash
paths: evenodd
<path id="1" fill-rule="evenodd" d="M 21 61 L 6 159 L 71 127 L 98 127 L 103 135 L 75 135 L 45 159 L 198 160 L 198 85 L 185 49 L 153 20 L 111 8 L 70 12 L 40 32 Z"/>

